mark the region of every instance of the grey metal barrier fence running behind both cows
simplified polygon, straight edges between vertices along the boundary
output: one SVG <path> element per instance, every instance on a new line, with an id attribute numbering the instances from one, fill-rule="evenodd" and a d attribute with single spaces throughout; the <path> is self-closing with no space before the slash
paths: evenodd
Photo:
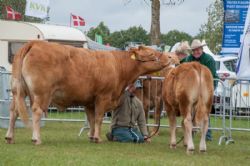
<path id="1" fill-rule="evenodd" d="M 9 104 L 12 100 L 12 95 L 10 91 L 10 79 L 11 73 L 0 70 L 0 127 L 7 128 L 8 120 L 9 120 Z M 142 86 L 146 80 L 152 81 L 163 81 L 164 77 L 146 77 L 141 76 L 140 80 Z M 249 80 L 237 80 L 232 84 L 228 84 L 230 80 L 217 80 L 218 88 L 215 91 L 214 95 L 214 111 L 210 115 L 210 129 L 211 130 L 219 130 L 222 131 L 221 137 L 219 138 L 219 145 L 222 141 L 225 141 L 226 144 L 230 142 L 234 142 L 232 139 L 232 130 L 236 131 L 250 131 L 250 100 L 249 100 Z M 227 82 L 228 81 L 228 82 Z M 242 88 L 242 83 L 244 83 L 244 88 Z M 230 85 L 230 86 L 229 86 Z M 156 84 L 155 89 L 161 88 L 158 84 Z M 243 90 L 242 90 L 243 89 Z M 143 95 L 150 95 L 152 93 L 152 89 L 149 89 L 148 94 L 141 93 L 141 97 Z M 155 92 L 157 90 L 154 90 Z M 244 92 L 243 92 L 244 91 Z M 246 92 L 245 92 L 246 91 Z M 243 94 L 243 97 L 242 97 Z M 155 94 L 156 95 L 156 94 Z M 244 100 L 240 100 L 244 98 Z M 247 99 L 246 99 L 247 98 Z M 143 102 L 143 101 L 142 101 Z M 243 106 L 244 104 L 244 109 Z M 156 108 L 153 110 L 149 110 L 151 114 L 154 112 Z M 164 109 L 163 109 L 164 110 Z M 81 133 L 89 127 L 87 117 L 83 113 L 84 107 L 71 107 L 67 108 L 66 111 L 60 112 L 55 107 L 51 106 L 48 110 L 48 117 L 43 117 L 42 121 L 63 121 L 63 122 L 83 122 L 83 127 L 79 132 L 79 136 Z M 244 113 L 244 114 L 242 114 Z M 166 112 L 163 111 L 161 116 L 165 116 Z M 108 116 L 104 117 L 103 123 L 110 123 L 110 119 Z M 243 122 L 242 122 L 243 121 Z M 239 127 L 239 124 L 245 124 L 243 127 Z M 181 120 L 178 120 L 177 127 L 181 127 Z M 157 126 L 157 124 L 148 123 L 150 127 Z M 22 127 L 22 123 L 17 121 L 17 127 Z M 168 123 L 161 124 L 160 127 L 169 127 Z"/>

